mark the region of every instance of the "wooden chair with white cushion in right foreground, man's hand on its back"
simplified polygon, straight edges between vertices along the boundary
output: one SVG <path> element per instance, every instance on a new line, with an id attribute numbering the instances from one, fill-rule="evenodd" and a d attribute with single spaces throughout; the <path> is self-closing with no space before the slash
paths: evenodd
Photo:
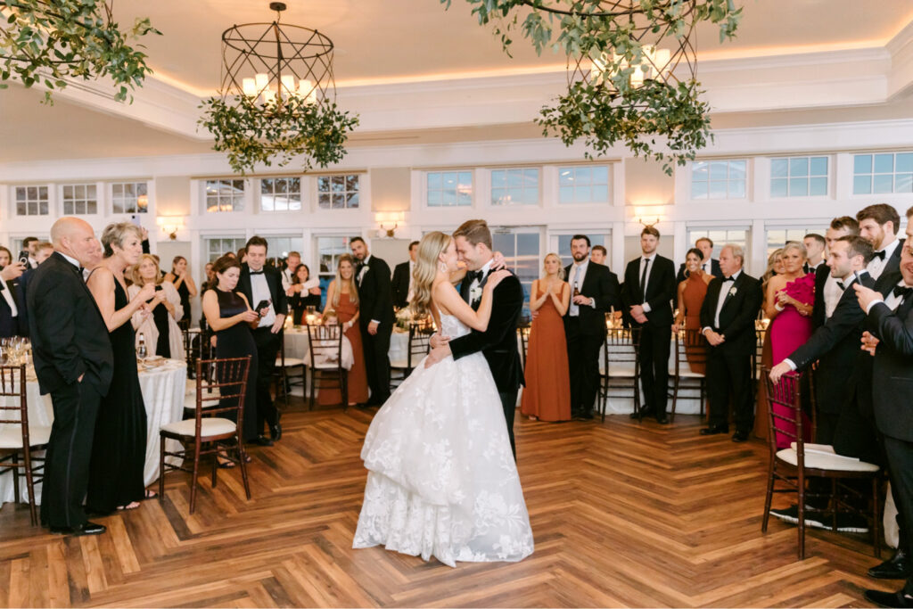
<path id="1" fill-rule="evenodd" d="M 761 532 L 767 532 L 767 523 L 771 517 L 771 499 L 773 493 L 795 493 L 798 509 L 799 529 L 799 560 L 805 558 L 805 503 L 806 499 L 822 497 L 808 492 L 805 481 L 809 478 L 825 478 L 831 481 L 830 509 L 827 513 L 831 517 L 831 529 L 837 530 L 838 509 L 851 513 L 861 514 L 868 518 L 868 514 L 860 512 L 843 499 L 852 496 L 862 499 L 855 488 L 841 484 L 845 480 L 870 480 L 872 483 L 872 510 L 871 528 L 872 544 L 875 546 L 876 557 L 881 556 L 881 533 L 879 514 L 879 487 L 881 475 L 879 467 L 860 461 L 852 457 L 842 457 L 834 454 L 833 446 L 810 445 L 803 441 L 803 400 L 802 376 L 797 373 L 784 374 L 780 383 L 771 381 L 770 369 L 761 370 L 767 389 L 767 402 L 770 415 L 768 420 L 770 446 L 770 466 L 767 477 L 767 495 L 764 499 L 764 518 L 761 522 Z M 781 413 L 774 412 L 774 406 L 779 406 Z M 779 425 L 778 425 L 779 422 Z M 788 425 L 794 426 L 795 431 L 789 430 Z M 786 436 L 791 440 L 789 448 L 777 448 L 777 436 Z M 777 483 L 782 483 L 782 488 L 776 488 Z M 843 495 L 841 494 L 843 493 Z"/>

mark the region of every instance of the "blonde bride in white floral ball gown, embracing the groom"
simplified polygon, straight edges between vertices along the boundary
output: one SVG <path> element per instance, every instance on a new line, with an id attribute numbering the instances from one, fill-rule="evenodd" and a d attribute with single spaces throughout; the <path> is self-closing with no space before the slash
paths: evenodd
<path id="1" fill-rule="evenodd" d="M 492 273 L 478 311 L 450 283 L 454 240 L 425 235 L 418 246 L 413 309 L 435 317 L 441 334 L 485 331 Z M 425 368 L 424 361 L 383 404 L 362 447 L 368 482 L 353 548 L 383 545 L 412 556 L 516 562 L 532 553 L 530 517 L 507 424 L 482 353 Z"/>

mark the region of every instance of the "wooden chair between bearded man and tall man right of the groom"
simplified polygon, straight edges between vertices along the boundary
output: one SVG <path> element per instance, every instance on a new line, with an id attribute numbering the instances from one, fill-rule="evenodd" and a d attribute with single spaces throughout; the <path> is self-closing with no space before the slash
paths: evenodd
<path id="1" fill-rule="evenodd" d="M 603 421 L 610 397 L 632 398 L 635 413 L 640 412 L 640 387 L 637 386 L 640 378 L 637 358 L 639 344 L 639 328 L 613 328 L 605 336 L 603 358 L 599 366 L 598 396 Z M 615 393 L 613 390 L 616 390 Z"/>

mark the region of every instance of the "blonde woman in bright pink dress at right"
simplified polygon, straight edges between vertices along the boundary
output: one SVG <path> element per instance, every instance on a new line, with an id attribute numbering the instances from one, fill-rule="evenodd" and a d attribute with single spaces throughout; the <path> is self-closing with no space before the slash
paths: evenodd
<path id="1" fill-rule="evenodd" d="M 805 247 L 791 241 L 783 247 L 782 274 L 774 275 L 767 284 L 764 295 L 764 313 L 771 320 L 771 361 L 782 362 L 812 336 L 812 310 L 814 305 L 814 274 L 803 273 Z M 781 381 L 782 383 L 782 381 Z M 788 415 L 785 407 L 775 405 L 773 412 Z M 795 425 L 776 422 L 777 429 L 795 435 Z M 812 425 L 803 415 L 803 437 L 812 436 Z M 790 446 L 789 436 L 777 434 L 777 447 Z"/>

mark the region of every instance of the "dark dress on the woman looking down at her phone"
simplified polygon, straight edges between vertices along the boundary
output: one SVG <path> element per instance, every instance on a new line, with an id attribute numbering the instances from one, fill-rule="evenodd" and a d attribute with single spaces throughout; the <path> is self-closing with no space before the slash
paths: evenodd
<path id="1" fill-rule="evenodd" d="M 219 300 L 219 317 L 234 317 L 247 310 L 244 299 L 235 292 L 215 289 Z M 236 323 L 231 328 L 215 332 L 215 357 L 245 357 L 250 355 L 250 372 L 247 373 L 247 392 L 244 396 L 244 421 L 242 422 L 242 439 L 250 442 L 257 439 L 257 344 L 250 326 L 245 322 Z M 229 400 L 219 402 L 220 407 L 227 407 Z M 220 415 L 224 416 L 224 415 Z"/>

